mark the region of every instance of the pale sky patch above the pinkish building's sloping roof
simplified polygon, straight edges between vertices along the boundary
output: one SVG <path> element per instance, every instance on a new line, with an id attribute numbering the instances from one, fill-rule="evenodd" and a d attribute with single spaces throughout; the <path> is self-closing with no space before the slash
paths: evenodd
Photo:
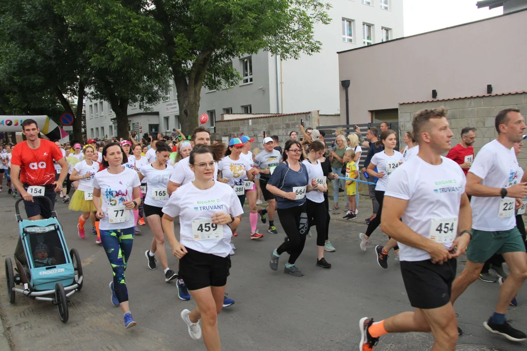
<path id="1" fill-rule="evenodd" d="M 394 0 L 401 1 L 401 0 Z M 503 7 L 477 8 L 477 0 L 403 0 L 404 35 L 430 32 L 503 14 Z"/>

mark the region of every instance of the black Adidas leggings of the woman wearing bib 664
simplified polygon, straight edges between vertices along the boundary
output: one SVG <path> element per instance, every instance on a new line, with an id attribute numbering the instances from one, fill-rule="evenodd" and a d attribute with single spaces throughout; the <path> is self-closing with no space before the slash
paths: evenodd
<path id="1" fill-rule="evenodd" d="M 306 204 L 301 206 L 295 206 L 290 208 L 278 208 L 276 210 L 280 224 L 286 232 L 288 240 L 282 243 L 276 252 L 278 255 L 289 251 L 288 263 L 290 265 L 295 264 L 298 256 L 304 250 L 306 244 L 306 235 L 308 232 L 308 220 L 306 213 Z"/>

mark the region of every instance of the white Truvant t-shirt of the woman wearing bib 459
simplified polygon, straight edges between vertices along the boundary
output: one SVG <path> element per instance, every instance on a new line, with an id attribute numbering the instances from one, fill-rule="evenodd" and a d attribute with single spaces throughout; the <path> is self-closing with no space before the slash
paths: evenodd
<path id="1" fill-rule="evenodd" d="M 214 182 L 214 185 L 207 190 L 200 190 L 193 183 L 182 185 L 172 193 L 167 204 L 163 207 L 163 213 L 170 217 L 179 216 L 179 242 L 183 246 L 205 254 L 227 257 L 231 250 L 230 240 L 232 236 L 228 225 L 222 226 L 222 238 L 194 240 L 192 234 L 193 219 L 211 218 L 213 214 L 220 212 L 228 213 L 233 217 L 243 213 L 240 200 L 234 190 L 221 182 Z"/>

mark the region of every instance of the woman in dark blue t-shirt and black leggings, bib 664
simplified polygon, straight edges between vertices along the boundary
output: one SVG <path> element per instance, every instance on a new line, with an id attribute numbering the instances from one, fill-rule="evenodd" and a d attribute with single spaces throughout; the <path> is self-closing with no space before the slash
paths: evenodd
<path id="1" fill-rule="evenodd" d="M 267 182 L 267 190 L 276 196 L 276 207 L 280 224 L 287 240 L 272 250 L 269 266 L 278 269 L 278 259 L 284 252 L 290 252 L 284 273 L 302 276 L 295 266 L 297 258 L 304 250 L 309 224 L 306 213 L 306 192 L 317 188 L 316 179 L 309 179 L 306 165 L 302 164 L 302 146 L 290 139 L 286 142 L 284 162 L 280 163 Z"/>

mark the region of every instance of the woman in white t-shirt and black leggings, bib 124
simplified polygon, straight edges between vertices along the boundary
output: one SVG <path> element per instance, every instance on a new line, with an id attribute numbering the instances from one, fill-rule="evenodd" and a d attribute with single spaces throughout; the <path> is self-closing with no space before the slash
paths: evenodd
<path id="1" fill-rule="evenodd" d="M 366 172 L 370 176 L 377 177 L 377 185 L 375 186 L 375 198 L 379 203 L 379 210 L 377 216 L 372 219 L 368 224 L 368 229 L 366 234 L 360 233 L 360 249 L 366 251 L 366 245 L 368 244 L 368 238 L 372 235 L 373 231 L 377 229 L 380 224 L 380 215 L 383 210 L 383 199 L 384 192 L 386 190 L 386 183 L 388 182 L 388 177 L 392 172 L 394 172 L 399 165 L 404 162 L 403 154 L 398 151 L 395 151 L 394 148 L 397 145 L 397 133 L 388 129 L 380 133 L 380 138 L 376 142 L 375 146 L 379 147 L 383 145 L 384 150 L 376 153 L 372 157 L 372 161 L 368 165 Z M 377 172 L 374 171 L 374 168 L 377 167 Z M 396 244 L 396 243 L 395 243 Z M 394 245 L 395 246 L 395 245 Z M 383 249 L 380 245 L 377 245 L 375 249 Z M 387 255 L 387 253 L 383 253 Z"/>

